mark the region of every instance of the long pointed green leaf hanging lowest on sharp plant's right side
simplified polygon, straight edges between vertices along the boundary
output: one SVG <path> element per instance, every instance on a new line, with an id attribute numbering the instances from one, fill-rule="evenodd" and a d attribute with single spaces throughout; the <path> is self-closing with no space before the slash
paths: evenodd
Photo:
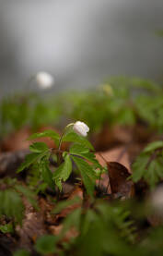
<path id="1" fill-rule="evenodd" d="M 77 168 L 79 169 L 83 183 L 87 189 L 87 194 L 92 195 L 94 192 L 96 173 L 87 162 L 76 156 L 71 156 L 74 162 L 76 163 Z"/>

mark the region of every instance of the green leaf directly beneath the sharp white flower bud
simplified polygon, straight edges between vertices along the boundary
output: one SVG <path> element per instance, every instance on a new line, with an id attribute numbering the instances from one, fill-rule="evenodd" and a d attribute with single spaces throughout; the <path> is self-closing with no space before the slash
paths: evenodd
<path id="1" fill-rule="evenodd" d="M 85 139 L 84 137 L 76 134 L 76 132 L 71 131 L 68 132 L 67 134 L 65 134 L 63 136 L 63 141 L 68 141 L 68 142 L 76 142 L 78 144 L 83 145 L 85 148 L 89 148 L 91 150 L 94 150 L 93 146 L 91 145 L 91 143 Z"/>

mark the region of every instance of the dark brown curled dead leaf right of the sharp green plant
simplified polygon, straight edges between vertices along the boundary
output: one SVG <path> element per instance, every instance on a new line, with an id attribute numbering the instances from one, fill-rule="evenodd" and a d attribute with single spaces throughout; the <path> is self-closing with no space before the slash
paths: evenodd
<path id="1" fill-rule="evenodd" d="M 117 162 L 107 163 L 112 193 L 120 193 L 125 199 L 134 196 L 134 183 L 127 180 L 130 176 L 127 168 Z"/>

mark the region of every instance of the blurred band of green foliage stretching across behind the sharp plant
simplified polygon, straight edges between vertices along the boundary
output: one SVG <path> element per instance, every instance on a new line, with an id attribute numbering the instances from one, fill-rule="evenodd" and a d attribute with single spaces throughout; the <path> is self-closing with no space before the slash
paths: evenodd
<path id="1" fill-rule="evenodd" d="M 1 136 L 24 126 L 56 125 L 62 118 L 82 120 L 91 132 L 105 124 L 163 130 L 163 90 L 148 79 L 113 77 L 88 91 L 65 91 L 52 97 L 36 94 L 7 97 L 0 104 Z"/>

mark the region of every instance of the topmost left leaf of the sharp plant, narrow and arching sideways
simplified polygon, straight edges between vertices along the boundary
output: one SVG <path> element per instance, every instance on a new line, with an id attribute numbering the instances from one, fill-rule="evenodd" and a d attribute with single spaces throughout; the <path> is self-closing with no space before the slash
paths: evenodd
<path id="1" fill-rule="evenodd" d="M 54 140 L 56 145 L 58 145 L 59 140 L 60 140 L 60 135 L 51 129 L 45 130 L 43 132 L 34 133 L 29 137 L 28 140 L 34 140 L 34 139 L 43 138 L 43 137 L 51 138 L 52 140 Z"/>

